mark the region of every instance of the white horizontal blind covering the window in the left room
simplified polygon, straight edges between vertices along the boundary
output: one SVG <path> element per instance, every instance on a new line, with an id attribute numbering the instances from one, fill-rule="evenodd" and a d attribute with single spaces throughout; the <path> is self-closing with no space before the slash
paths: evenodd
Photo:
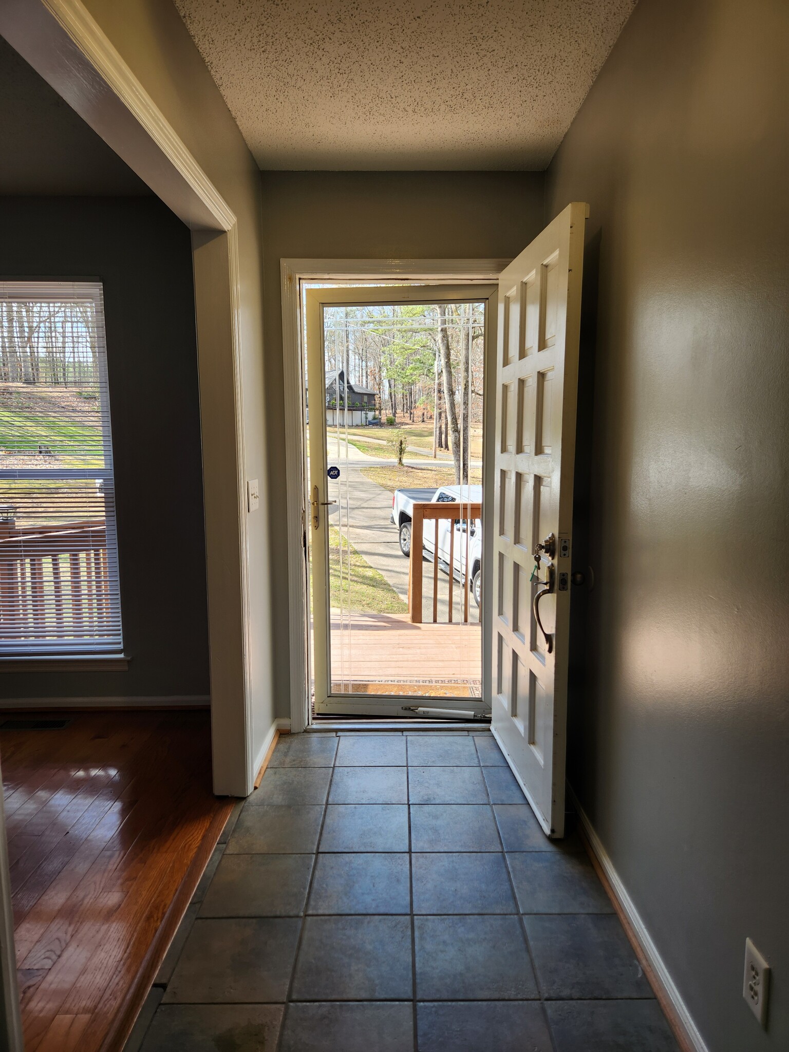
<path id="1" fill-rule="evenodd" d="M 122 649 L 101 285 L 0 282 L 0 655 Z"/>

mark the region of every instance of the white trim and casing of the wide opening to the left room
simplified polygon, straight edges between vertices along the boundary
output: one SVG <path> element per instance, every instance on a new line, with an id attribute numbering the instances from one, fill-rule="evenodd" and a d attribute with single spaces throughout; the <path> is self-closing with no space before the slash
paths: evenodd
<path id="1" fill-rule="evenodd" d="M 81 0 L 4 0 L 0 33 L 193 230 L 214 790 L 254 786 L 236 216 Z"/>

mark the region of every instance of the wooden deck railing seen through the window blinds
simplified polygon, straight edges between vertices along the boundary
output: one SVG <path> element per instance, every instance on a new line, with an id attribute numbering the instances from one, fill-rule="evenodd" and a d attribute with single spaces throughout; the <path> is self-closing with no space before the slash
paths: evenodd
<path id="1" fill-rule="evenodd" d="M 112 634 L 103 519 L 46 526 L 0 523 L 0 641 Z"/>

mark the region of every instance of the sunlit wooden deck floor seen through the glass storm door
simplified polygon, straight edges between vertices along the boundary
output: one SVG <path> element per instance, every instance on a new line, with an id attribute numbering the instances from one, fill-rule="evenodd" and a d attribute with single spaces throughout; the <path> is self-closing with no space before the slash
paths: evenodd
<path id="1" fill-rule="evenodd" d="M 331 615 L 332 689 L 351 693 L 478 697 L 479 624 L 414 625 L 406 614 Z"/>

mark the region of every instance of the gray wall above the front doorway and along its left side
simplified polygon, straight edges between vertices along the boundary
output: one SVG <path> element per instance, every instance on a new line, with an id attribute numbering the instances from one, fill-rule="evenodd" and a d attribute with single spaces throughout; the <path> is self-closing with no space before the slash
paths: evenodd
<path id="1" fill-rule="evenodd" d="M 264 171 L 268 442 L 284 447 L 280 260 L 511 259 L 540 231 L 538 171 Z M 287 605 L 285 458 L 271 457 L 274 609 Z M 288 626 L 274 619 L 277 715 L 289 716 Z"/>

